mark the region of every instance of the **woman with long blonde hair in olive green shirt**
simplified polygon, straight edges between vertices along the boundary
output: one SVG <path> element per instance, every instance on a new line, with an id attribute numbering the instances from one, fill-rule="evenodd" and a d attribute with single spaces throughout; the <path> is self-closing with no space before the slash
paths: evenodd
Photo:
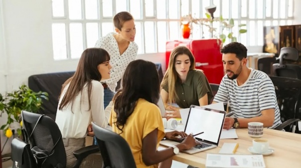
<path id="1" fill-rule="evenodd" d="M 169 118 L 181 118 L 179 109 L 208 105 L 213 93 L 205 74 L 195 69 L 195 59 L 185 46 L 174 48 L 161 83 L 161 97 Z M 168 104 L 176 103 L 178 107 Z"/>

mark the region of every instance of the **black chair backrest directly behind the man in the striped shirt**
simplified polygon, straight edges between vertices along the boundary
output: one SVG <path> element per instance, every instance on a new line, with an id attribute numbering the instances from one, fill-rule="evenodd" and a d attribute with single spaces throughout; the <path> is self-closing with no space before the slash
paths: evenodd
<path id="1" fill-rule="evenodd" d="M 300 119 L 301 80 L 270 76 L 276 91 L 282 122 L 289 119 Z"/>

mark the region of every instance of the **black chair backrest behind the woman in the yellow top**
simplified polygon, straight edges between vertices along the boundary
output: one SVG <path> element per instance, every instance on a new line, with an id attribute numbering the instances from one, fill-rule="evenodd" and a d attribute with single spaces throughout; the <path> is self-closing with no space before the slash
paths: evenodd
<path id="1" fill-rule="evenodd" d="M 104 161 L 103 168 L 136 168 L 131 148 L 124 138 L 94 123 L 93 131 Z"/>

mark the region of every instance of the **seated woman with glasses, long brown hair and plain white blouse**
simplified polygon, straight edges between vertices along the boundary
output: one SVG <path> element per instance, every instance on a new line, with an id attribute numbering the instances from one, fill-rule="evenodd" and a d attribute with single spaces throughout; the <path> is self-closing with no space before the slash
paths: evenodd
<path id="1" fill-rule="evenodd" d="M 85 147 L 89 124 L 93 121 L 103 128 L 108 125 L 110 113 L 104 111 L 104 87 L 100 80 L 110 78 L 109 61 L 106 50 L 87 48 L 74 75 L 63 84 L 55 122 L 62 134 L 67 168 L 76 162 L 73 152 Z M 85 158 L 81 168 L 101 167 L 101 156 L 95 155 Z"/>

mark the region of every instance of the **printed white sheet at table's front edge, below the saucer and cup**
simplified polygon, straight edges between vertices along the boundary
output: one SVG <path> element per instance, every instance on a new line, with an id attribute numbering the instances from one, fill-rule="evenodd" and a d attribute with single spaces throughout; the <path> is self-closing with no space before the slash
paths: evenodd
<path id="1" fill-rule="evenodd" d="M 207 154 L 206 168 L 266 168 L 262 155 Z"/>

